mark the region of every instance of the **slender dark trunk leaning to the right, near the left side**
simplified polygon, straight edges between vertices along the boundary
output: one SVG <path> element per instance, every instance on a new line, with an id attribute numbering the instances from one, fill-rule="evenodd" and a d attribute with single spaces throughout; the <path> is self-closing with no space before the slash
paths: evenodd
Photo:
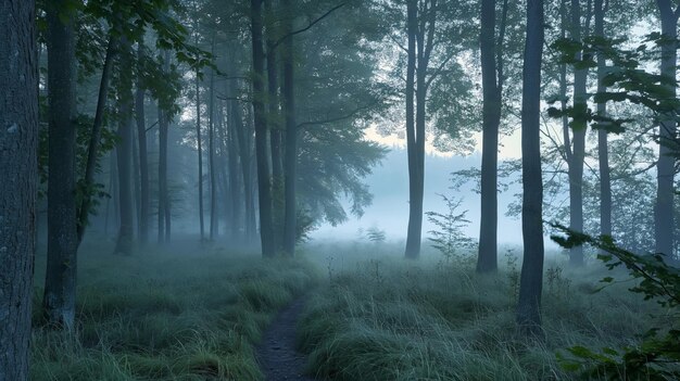
<path id="1" fill-rule="evenodd" d="M 109 45 L 106 46 L 106 56 L 99 84 L 99 96 L 97 98 L 97 110 L 95 112 L 95 120 L 92 123 L 92 132 L 87 150 L 87 164 L 85 166 L 85 179 L 83 181 L 85 189 L 90 189 L 95 185 L 95 173 L 97 172 L 97 162 L 99 158 L 99 141 L 101 140 L 101 129 L 104 124 L 104 111 L 106 109 L 106 99 L 109 97 L 109 85 L 111 82 L 111 72 L 113 71 L 113 60 L 116 55 L 117 38 L 110 34 Z M 85 193 L 80 208 L 78 211 L 78 244 L 85 236 L 85 227 L 90 214 L 91 195 Z"/>

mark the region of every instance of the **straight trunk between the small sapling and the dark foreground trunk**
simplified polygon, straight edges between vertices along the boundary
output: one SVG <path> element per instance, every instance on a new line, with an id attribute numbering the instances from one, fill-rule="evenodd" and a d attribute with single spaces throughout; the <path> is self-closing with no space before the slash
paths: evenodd
<path id="1" fill-rule="evenodd" d="M 495 0 L 481 1 L 481 76 L 482 76 L 482 157 L 481 216 L 479 227 L 478 272 L 498 269 L 498 166 L 499 126 L 503 93 L 503 40 L 507 18 L 507 0 L 503 1 L 498 42 L 495 39 Z"/>

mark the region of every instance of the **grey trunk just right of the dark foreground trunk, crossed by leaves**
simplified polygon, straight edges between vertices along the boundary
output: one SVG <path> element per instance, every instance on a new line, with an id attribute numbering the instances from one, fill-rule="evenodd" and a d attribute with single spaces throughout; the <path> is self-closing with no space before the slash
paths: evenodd
<path id="1" fill-rule="evenodd" d="M 581 2 L 571 0 L 571 39 L 581 40 Z M 588 31 L 587 31 L 588 33 Z M 576 53 L 576 60 L 581 59 L 581 52 Z M 574 109 L 583 113 L 588 107 L 587 93 L 588 69 L 574 71 Z M 585 158 L 587 124 L 575 118 L 571 125 L 574 132 L 571 161 L 569 165 L 569 229 L 583 231 L 583 164 Z M 572 266 L 583 265 L 583 246 L 578 245 L 569 250 L 569 263 Z"/>

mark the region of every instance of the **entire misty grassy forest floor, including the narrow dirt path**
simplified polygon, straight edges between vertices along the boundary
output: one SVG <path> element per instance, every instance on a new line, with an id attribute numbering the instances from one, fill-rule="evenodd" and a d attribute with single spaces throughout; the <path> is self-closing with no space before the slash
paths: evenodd
<path id="1" fill-rule="evenodd" d="M 672 327 L 630 282 L 599 291 L 625 274 L 595 262 L 570 272 L 564 254 L 545 264 L 546 340 L 536 342 L 515 328 L 518 250 L 484 277 L 471 255 L 442 261 L 427 245 L 415 262 L 369 242 L 307 244 L 292 261 L 178 243 L 110 252 L 83 249 L 68 333 L 40 316 L 38 255 L 32 380 L 578 380 L 558 360 L 567 348 L 634 347 L 648 328 Z"/>

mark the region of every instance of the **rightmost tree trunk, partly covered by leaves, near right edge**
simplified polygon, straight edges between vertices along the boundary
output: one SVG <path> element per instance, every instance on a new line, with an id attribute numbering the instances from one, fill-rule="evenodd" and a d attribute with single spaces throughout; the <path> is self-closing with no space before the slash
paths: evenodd
<path id="1" fill-rule="evenodd" d="M 671 8 L 670 0 L 657 0 L 662 17 L 662 34 L 666 42 L 662 45 L 662 75 L 676 80 L 678 51 L 678 10 Z M 680 8 L 679 8 L 680 9 Z M 668 90 L 676 96 L 676 88 L 668 86 Z M 676 122 L 673 115 L 668 115 L 659 127 L 659 153 L 656 164 L 656 205 L 654 214 L 654 232 L 656 252 L 672 256 L 673 242 L 673 176 L 676 158 L 670 143 L 676 139 Z"/>

